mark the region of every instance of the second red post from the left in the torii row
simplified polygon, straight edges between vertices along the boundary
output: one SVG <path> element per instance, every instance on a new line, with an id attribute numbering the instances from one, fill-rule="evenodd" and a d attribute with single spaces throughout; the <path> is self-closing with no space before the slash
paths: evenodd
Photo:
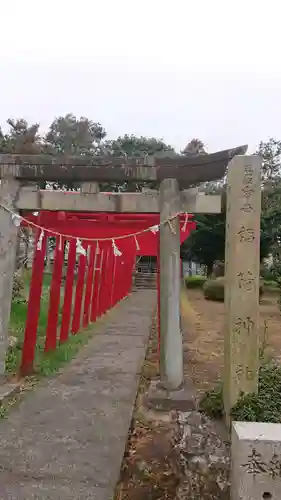
<path id="1" fill-rule="evenodd" d="M 63 249 L 64 249 L 64 241 L 62 240 L 62 238 L 57 236 L 52 283 L 50 289 L 50 302 L 49 302 L 48 323 L 46 330 L 45 351 L 51 351 L 55 349 L 57 345 L 60 290 L 61 290 L 62 268 L 64 261 Z"/>

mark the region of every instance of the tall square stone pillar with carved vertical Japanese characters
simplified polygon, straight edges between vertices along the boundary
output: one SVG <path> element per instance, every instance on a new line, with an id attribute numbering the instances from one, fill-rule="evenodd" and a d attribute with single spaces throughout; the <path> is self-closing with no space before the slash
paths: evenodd
<path id="1" fill-rule="evenodd" d="M 228 166 L 225 249 L 224 409 L 256 392 L 259 370 L 261 159 Z"/>

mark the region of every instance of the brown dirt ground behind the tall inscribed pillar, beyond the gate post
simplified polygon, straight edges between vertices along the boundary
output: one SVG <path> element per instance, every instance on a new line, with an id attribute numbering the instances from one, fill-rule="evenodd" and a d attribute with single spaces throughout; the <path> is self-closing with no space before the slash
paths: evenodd
<path id="1" fill-rule="evenodd" d="M 261 347 L 266 356 L 281 359 L 281 313 L 276 295 L 260 304 Z M 214 386 L 222 377 L 224 304 L 204 299 L 201 290 L 182 290 L 182 328 L 186 376 L 198 391 Z"/>

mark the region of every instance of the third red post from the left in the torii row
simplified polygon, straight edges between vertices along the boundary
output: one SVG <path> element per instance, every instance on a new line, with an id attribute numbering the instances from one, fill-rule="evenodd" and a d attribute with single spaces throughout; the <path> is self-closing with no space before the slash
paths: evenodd
<path id="1" fill-rule="evenodd" d="M 72 312 L 72 297 L 74 284 L 74 271 L 76 262 L 76 241 L 72 240 L 69 244 L 67 272 L 64 288 L 64 302 L 62 308 L 62 321 L 60 330 L 60 342 L 68 339 Z"/>

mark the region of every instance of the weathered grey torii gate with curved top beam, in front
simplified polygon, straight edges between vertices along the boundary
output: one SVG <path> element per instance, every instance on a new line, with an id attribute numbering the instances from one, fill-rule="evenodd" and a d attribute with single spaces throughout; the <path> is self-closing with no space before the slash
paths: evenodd
<path id="1" fill-rule="evenodd" d="M 198 193 L 193 186 L 221 179 L 230 160 L 244 155 L 246 149 L 241 146 L 210 155 L 147 156 L 144 159 L 0 155 L 0 374 L 5 369 L 17 236 L 8 210 L 160 212 L 160 372 L 167 389 L 179 388 L 183 382 L 183 348 L 177 214 L 220 212 L 219 196 Z M 42 191 L 30 185 L 42 181 L 77 182 L 81 184 L 81 192 L 70 195 L 63 191 Z M 160 190 L 159 193 L 99 193 L 98 183 L 124 181 L 157 182 Z"/>

